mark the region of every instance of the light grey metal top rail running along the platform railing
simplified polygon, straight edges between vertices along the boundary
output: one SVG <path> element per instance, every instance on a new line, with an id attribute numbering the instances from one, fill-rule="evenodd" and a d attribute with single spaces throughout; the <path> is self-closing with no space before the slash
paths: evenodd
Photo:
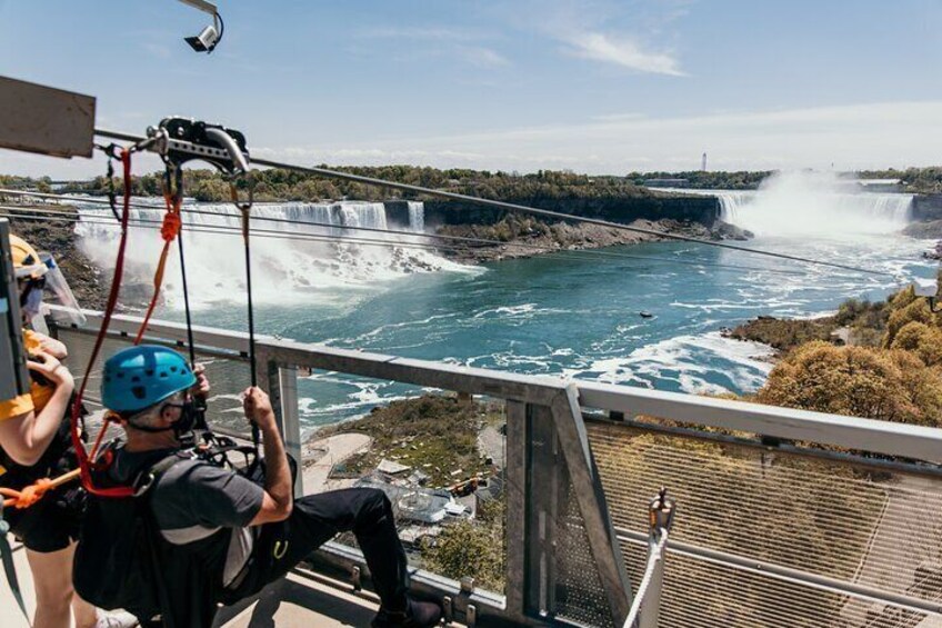
<path id="1" fill-rule="evenodd" d="M 83 310 L 90 333 L 101 322 L 101 313 Z M 133 333 L 139 317 L 114 316 L 114 335 Z M 198 346 L 210 346 L 238 355 L 248 351 L 248 335 L 208 327 L 193 327 Z M 186 341 L 182 323 L 152 321 L 149 338 L 164 338 L 177 345 Z M 417 386 L 489 395 L 533 403 L 549 405 L 564 391 L 565 379 L 464 367 L 429 360 L 340 349 L 327 345 L 298 342 L 259 336 L 259 347 L 270 351 L 279 363 L 309 367 L 349 375 L 389 379 Z M 744 431 L 789 440 L 810 441 L 849 449 L 939 462 L 942 460 L 942 429 L 875 419 L 845 417 L 732 401 L 682 392 L 668 392 L 623 385 L 573 380 L 584 408 L 625 415 L 667 417 L 672 420 Z"/>

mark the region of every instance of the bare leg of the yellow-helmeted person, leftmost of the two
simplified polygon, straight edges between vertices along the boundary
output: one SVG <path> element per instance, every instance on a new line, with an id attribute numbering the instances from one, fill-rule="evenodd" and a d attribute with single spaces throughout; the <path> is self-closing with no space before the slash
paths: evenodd
<path id="1" fill-rule="evenodd" d="M 72 622 L 73 547 L 38 552 L 27 549 L 27 560 L 36 586 L 33 628 L 69 628 Z"/>

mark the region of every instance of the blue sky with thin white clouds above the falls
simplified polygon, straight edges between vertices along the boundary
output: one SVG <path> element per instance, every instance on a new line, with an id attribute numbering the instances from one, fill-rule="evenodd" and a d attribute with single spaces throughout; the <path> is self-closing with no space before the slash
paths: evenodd
<path id="1" fill-rule="evenodd" d="M 218 4 L 201 56 L 181 38 L 208 17 L 174 0 L 0 0 L 0 74 L 98 97 L 100 127 L 186 114 L 300 163 L 942 162 L 942 0 Z M 0 150 L 0 172 L 102 169 Z"/>

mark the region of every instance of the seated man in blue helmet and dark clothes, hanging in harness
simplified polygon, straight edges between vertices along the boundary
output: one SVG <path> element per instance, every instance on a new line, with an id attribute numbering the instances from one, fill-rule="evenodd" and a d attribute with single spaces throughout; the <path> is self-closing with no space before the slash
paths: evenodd
<path id="1" fill-rule="evenodd" d="M 243 406 L 263 437 L 264 486 L 196 458 L 180 442 L 192 429 L 194 386 L 209 390 L 179 353 L 157 346 L 119 351 L 102 373 L 103 405 L 127 433 L 112 478 L 131 484 L 158 462 L 163 469 L 148 495 L 162 537 L 159 568 L 170 600 L 168 625 L 209 626 L 217 602 L 258 592 L 344 531 L 357 536 L 381 599 L 374 627 L 439 624 L 438 605 L 407 597 L 405 552 L 382 491 L 345 489 L 294 500 L 274 412 L 259 388 L 244 391 Z"/>

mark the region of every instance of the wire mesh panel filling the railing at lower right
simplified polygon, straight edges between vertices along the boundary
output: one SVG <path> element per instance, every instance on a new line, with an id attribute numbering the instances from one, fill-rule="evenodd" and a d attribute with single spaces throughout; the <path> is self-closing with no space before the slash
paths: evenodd
<path id="1" fill-rule="evenodd" d="M 665 486 L 672 542 L 743 559 L 669 552 L 663 625 L 903 627 L 934 615 L 893 600 L 942 597 L 942 481 L 617 425 L 589 433 L 619 530 L 647 534 L 645 500 Z M 637 582 L 644 547 L 623 549 Z"/>

